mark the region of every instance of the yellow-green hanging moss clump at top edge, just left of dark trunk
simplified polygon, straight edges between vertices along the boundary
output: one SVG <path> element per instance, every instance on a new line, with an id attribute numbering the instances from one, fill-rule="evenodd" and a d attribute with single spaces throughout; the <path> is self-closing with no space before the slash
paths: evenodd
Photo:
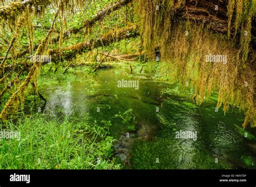
<path id="1" fill-rule="evenodd" d="M 143 46 L 149 54 L 154 54 L 154 48 L 165 45 L 169 40 L 174 12 L 184 3 L 183 0 L 176 3 L 173 0 L 134 1 L 134 9 L 140 20 L 139 31 L 143 36 Z M 165 48 L 162 50 L 164 52 Z"/>

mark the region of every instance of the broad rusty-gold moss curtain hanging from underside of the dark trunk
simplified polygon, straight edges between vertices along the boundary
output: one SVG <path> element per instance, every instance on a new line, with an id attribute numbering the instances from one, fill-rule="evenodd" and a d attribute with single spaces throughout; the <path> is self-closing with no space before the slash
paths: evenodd
<path id="1" fill-rule="evenodd" d="M 170 53 L 168 56 L 162 56 L 162 59 L 169 61 L 166 62 L 166 66 L 169 67 L 169 78 L 183 85 L 189 82 L 196 90 L 197 104 L 201 104 L 214 91 L 218 91 L 218 109 L 223 105 L 226 112 L 229 105 L 236 105 L 245 111 L 247 116 L 243 126 L 245 127 L 248 122 L 254 126 L 255 73 L 248 61 L 244 68 L 240 68 L 237 56 L 240 49 L 235 45 L 235 40 L 230 41 L 227 37 L 209 32 L 205 28 L 199 30 L 200 26 L 196 24 L 188 30 L 191 33 L 191 37 L 188 38 L 184 34 L 187 28 L 180 25 L 185 23 L 181 20 L 181 23 L 173 25 L 171 32 L 174 35 L 169 43 Z M 227 63 L 206 62 L 205 55 L 210 53 L 227 55 Z"/>

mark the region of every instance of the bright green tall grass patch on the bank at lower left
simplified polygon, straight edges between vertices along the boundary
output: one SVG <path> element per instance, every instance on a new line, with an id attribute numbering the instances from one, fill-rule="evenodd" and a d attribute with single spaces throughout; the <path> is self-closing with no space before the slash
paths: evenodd
<path id="1" fill-rule="evenodd" d="M 21 138 L 0 139 L 0 169 L 120 169 L 113 138 L 95 124 L 33 116 L 1 129 Z"/>

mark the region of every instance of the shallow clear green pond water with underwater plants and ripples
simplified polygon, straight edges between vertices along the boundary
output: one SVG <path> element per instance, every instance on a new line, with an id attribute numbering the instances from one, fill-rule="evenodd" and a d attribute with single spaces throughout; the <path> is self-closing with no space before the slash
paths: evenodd
<path id="1" fill-rule="evenodd" d="M 242 113 L 235 108 L 225 116 L 222 110 L 216 112 L 214 98 L 197 106 L 183 92 L 162 94 L 161 90 L 174 86 L 155 82 L 150 71 L 143 72 L 131 76 L 129 68 L 100 69 L 93 77 L 80 71 L 70 80 L 41 88 L 48 100 L 42 112 L 50 117 L 109 121 L 110 135 L 117 140 L 114 156 L 124 168 L 256 168 L 255 140 L 244 137 Z M 122 79 L 138 81 L 138 89 L 118 88 Z M 116 116 L 129 109 L 128 123 Z M 180 131 L 197 136 L 177 138 Z"/>

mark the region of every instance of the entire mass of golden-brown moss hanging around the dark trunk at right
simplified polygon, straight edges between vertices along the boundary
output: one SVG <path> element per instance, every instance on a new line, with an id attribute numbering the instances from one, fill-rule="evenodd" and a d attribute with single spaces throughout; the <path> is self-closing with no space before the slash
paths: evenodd
<path id="1" fill-rule="evenodd" d="M 228 2 L 227 37 L 222 33 L 209 31 L 204 24 L 199 25 L 195 21 L 178 18 L 176 11 L 184 3 L 167 0 L 134 2 L 144 49 L 151 54 L 151 59 L 156 57 L 154 50 L 160 49 L 163 73 L 167 67 L 169 80 L 183 85 L 189 82 L 195 89 L 194 98 L 197 104 L 201 104 L 214 91 L 218 91 L 218 109 L 223 106 L 226 112 L 230 105 L 236 105 L 246 114 L 242 126 L 246 127 L 248 123 L 256 126 L 255 74 L 247 61 L 251 21 L 255 10 L 253 1 Z M 238 45 L 237 38 L 230 38 L 231 34 L 239 39 Z M 228 62 L 206 62 L 205 55 L 210 53 L 227 55 Z"/>

